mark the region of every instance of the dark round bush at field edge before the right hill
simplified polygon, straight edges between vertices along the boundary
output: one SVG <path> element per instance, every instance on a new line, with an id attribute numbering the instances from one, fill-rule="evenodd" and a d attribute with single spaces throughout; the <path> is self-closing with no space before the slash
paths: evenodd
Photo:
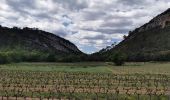
<path id="1" fill-rule="evenodd" d="M 117 52 L 114 54 L 112 59 L 116 66 L 122 66 L 125 63 L 126 55 L 121 52 Z"/>

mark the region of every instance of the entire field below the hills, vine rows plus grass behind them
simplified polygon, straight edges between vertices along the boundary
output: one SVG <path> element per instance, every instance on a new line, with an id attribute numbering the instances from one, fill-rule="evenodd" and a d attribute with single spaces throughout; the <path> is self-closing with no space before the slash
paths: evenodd
<path id="1" fill-rule="evenodd" d="M 0 65 L 1 100 L 169 100 L 170 63 Z"/>

